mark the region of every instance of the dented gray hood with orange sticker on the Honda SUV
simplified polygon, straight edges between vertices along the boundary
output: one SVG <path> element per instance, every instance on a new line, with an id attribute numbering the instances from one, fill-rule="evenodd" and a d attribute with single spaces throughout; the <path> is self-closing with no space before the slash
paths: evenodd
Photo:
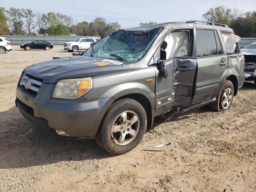
<path id="1" fill-rule="evenodd" d="M 132 66 L 133 62 L 73 56 L 34 64 L 25 68 L 24 72 L 42 79 L 44 83 L 56 83 L 60 79 L 88 77 L 130 70 Z"/>

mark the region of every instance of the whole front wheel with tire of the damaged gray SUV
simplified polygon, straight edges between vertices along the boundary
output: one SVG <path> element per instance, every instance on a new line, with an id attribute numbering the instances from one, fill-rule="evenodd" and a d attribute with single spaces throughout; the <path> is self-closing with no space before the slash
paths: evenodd
<path id="1" fill-rule="evenodd" d="M 112 155 L 124 154 L 140 143 L 146 127 L 143 106 L 136 100 L 122 99 L 108 108 L 95 140 L 100 148 Z"/>

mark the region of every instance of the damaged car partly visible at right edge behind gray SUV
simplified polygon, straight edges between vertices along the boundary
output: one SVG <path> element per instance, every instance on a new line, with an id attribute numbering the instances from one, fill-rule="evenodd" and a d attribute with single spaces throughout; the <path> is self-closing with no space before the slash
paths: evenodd
<path id="1" fill-rule="evenodd" d="M 256 84 L 256 42 L 242 48 L 244 54 L 244 73 L 246 81 Z"/>

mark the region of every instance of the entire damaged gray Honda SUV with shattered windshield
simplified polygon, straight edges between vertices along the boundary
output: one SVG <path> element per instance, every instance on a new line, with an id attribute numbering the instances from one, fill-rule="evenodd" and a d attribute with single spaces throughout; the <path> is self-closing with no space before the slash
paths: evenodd
<path id="1" fill-rule="evenodd" d="M 16 106 L 50 134 L 135 148 L 155 116 L 226 110 L 244 83 L 240 38 L 226 25 L 170 22 L 110 33 L 82 56 L 24 69 Z"/>

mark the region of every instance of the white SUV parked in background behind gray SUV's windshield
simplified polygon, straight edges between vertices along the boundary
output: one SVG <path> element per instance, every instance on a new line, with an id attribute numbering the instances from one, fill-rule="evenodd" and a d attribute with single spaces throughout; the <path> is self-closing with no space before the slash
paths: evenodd
<path id="1" fill-rule="evenodd" d="M 77 38 L 76 40 L 72 42 L 66 42 L 64 43 L 64 50 L 67 50 L 69 52 L 78 52 L 80 49 L 89 49 L 91 42 L 97 42 L 100 38 L 92 38 L 92 37 L 82 37 Z"/>

